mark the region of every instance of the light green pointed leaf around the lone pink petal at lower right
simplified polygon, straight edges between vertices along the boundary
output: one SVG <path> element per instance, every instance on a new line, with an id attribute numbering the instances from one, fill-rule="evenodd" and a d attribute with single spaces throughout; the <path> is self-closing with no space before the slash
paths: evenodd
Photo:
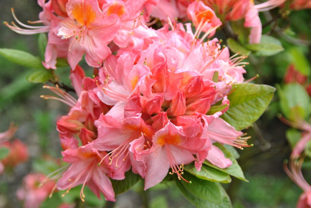
<path id="1" fill-rule="evenodd" d="M 225 172 L 226 174 L 232 175 L 235 178 L 238 178 L 240 180 L 243 181 L 247 181 L 244 177 L 243 171 L 241 169 L 241 167 L 239 166 L 238 162 L 236 161 L 236 159 L 234 158 L 234 156 L 231 154 L 231 152 L 229 150 L 227 150 L 223 145 L 219 144 L 219 143 L 214 143 L 213 145 L 217 146 L 224 154 L 226 158 L 229 158 L 232 161 L 232 165 L 229 166 L 228 168 L 225 169 L 221 169 L 215 165 L 212 165 L 209 161 L 204 161 L 204 164 L 211 166 L 217 170 L 220 170 L 222 172 Z"/>

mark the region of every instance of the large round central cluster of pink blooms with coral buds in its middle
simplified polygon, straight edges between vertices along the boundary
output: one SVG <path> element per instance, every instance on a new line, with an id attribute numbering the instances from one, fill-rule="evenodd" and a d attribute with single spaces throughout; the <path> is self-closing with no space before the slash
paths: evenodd
<path id="1" fill-rule="evenodd" d="M 118 169 L 113 178 L 123 179 L 132 166 L 133 172 L 145 179 L 145 189 L 162 181 L 169 168 L 187 181 L 182 176 L 183 165 L 192 161 L 198 170 L 206 158 L 221 168 L 230 166 L 231 161 L 217 148 L 208 157 L 210 140 L 248 146 L 242 132 L 217 119 L 228 108 L 206 115 L 213 102 L 223 100 L 223 105 L 229 105 L 225 93 L 233 83 L 230 75 L 244 73 L 235 63 L 239 59 L 231 62 L 229 52 L 221 54 L 217 39 L 202 44 L 197 40 L 196 44 L 194 37 L 199 31 L 191 35 L 176 26 L 158 33 L 167 42 L 154 42 L 141 54 L 127 52 L 117 61 L 110 60 L 111 65 L 103 67 L 110 79 L 98 84 L 103 93 L 98 97 L 106 104 L 119 105 L 95 121 L 99 137 L 91 145 L 110 151 L 109 164 Z M 236 73 L 228 73 L 230 70 Z M 216 83 L 212 81 L 215 71 L 219 72 Z M 243 81 L 242 75 L 238 77 Z M 227 129 L 229 134 L 221 133 Z M 223 161 L 217 162 L 216 157 Z"/>

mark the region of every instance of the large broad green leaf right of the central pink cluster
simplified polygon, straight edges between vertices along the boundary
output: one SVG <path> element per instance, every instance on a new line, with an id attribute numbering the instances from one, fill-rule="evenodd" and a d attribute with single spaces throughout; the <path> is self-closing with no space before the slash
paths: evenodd
<path id="1" fill-rule="evenodd" d="M 221 116 L 236 130 L 253 124 L 271 102 L 275 88 L 264 84 L 241 83 L 233 85 L 236 89 L 228 95 L 230 107 Z"/>

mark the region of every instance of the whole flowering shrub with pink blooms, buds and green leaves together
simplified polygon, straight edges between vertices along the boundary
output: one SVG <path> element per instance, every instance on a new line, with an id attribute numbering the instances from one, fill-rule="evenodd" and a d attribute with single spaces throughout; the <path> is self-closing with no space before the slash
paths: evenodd
<path id="1" fill-rule="evenodd" d="M 253 146 L 242 130 L 258 120 L 275 92 L 269 85 L 250 83 L 258 75 L 244 79 L 245 59 L 251 53 L 272 56 L 284 50 L 278 39 L 262 35 L 259 12 L 279 6 L 283 11 L 301 9 L 293 6 L 301 2 L 38 0 L 38 4 L 39 20 L 26 25 L 12 8 L 20 26 L 4 24 L 19 34 L 39 34 L 41 58 L 5 48 L 0 54 L 37 69 L 27 80 L 44 83 L 43 88 L 54 95 L 41 97 L 63 102 L 70 110 L 56 122 L 65 163 L 47 176 L 25 177 L 17 192 L 24 206 L 40 207 L 57 190 L 65 198 L 78 185 L 82 202 L 88 200 L 86 187 L 98 198 L 103 194 L 106 201 L 116 201 L 118 194 L 142 179 L 144 190 L 175 181 L 197 207 L 232 207 L 220 183 L 230 183 L 232 176 L 248 181 L 233 147 Z M 217 38 L 221 31 L 231 33 L 228 47 Z M 56 74 L 67 66 L 72 87 Z M 309 86 L 292 65 L 284 81 L 299 90 L 304 87 L 298 83 Z M 295 117 L 301 112 L 309 115 L 309 108 L 284 104 L 289 102 L 286 90 L 292 90 L 287 86 L 279 87 L 279 93 L 281 110 L 291 121 L 282 119 L 306 133 L 285 171 L 304 190 L 298 207 L 310 207 L 310 186 L 300 174 L 299 159 L 309 141 L 309 124 Z M 0 139 L 11 138 L 13 128 Z M 27 160 L 19 140 L 2 146 L 12 149 L 1 159 L 5 166 Z"/>

